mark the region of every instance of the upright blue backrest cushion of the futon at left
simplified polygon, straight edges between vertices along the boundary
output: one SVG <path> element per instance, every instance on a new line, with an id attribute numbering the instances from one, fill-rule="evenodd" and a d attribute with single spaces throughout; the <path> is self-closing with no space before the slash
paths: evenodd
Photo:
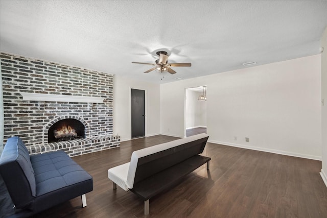
<path id="1" fill-rule="evenodd" d="M 18 164 L 10 164 L 10 162 L 16 162 Z M 24 178 L 19 181 L 19 185 L 24 186 L 28 184 L 32 196 L 35 197 L 36 186 L 34 169 L 32 167 L 29 152 L 25 147 L 24 142 L 22 142 L 22 140 L 18 136 L 11 137 L 7 140 L 3 155 L 0 158 L 0 164 L 7 164 L 6 167 L 4 165 L 2 171 L 9 171 L 8 173 L 14 174 L 18 171 L 22 171 L 22 173 L 24 173 Z M 8 167 L 8 164 L 10 165 L 10 167 Z M 20 169 L 15 168 L 16 166 L 20 167 Z"/>

